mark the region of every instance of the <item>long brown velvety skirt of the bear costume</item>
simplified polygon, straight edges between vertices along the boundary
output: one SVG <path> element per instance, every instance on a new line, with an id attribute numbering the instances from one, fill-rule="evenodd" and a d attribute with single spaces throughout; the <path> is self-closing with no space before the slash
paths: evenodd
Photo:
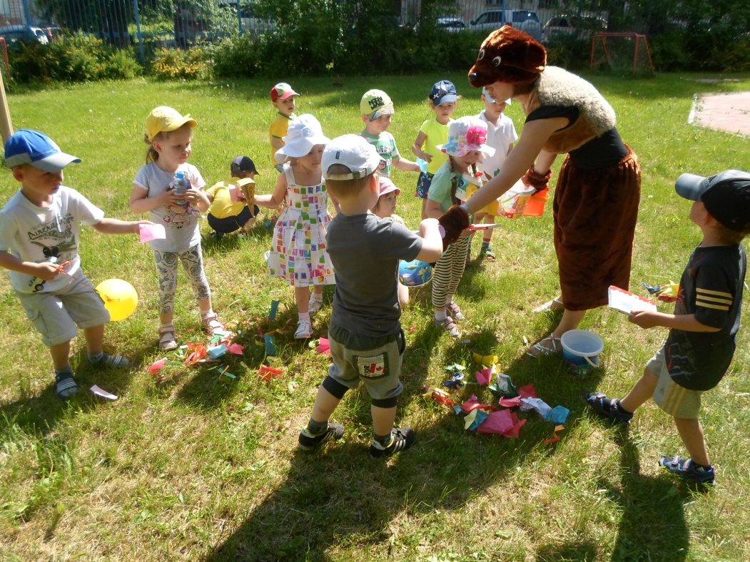
<path id="1" fill-rule="evenodd" d="M 640 201 L 640 166 L 628 154 L 607 168 L 562 163 L 553 201 L 562 302 L 568 310 L 607 304 L 607 288 L 630 283 Z"/>

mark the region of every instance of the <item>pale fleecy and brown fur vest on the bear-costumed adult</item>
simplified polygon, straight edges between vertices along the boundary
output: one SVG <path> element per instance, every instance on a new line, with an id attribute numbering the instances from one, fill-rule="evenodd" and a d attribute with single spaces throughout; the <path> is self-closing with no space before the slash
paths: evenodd
<path id="1" fill-rule="evenodd" d="M 559 67 L 547 67 L 536 85 L 541 106 L 577 107 L 577 121 L 550 136 L 544 150 L 564 154 L 615 126 L 614 109 L 589 82 Z"/>

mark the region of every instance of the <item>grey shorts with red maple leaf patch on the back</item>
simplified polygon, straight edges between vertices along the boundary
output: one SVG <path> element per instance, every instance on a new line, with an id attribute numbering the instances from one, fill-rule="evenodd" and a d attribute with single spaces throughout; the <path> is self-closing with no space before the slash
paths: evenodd
<path id="1" fill-rule="evenodd" d="M 371 337 L 344 328 L 329 327 L 333 364 L 329 377 L 349 389 L 365 383 L 371 398 L 395 398 L 404 391 L 398 380 L 407 347 L 404 331 L 391 336 Z"/>

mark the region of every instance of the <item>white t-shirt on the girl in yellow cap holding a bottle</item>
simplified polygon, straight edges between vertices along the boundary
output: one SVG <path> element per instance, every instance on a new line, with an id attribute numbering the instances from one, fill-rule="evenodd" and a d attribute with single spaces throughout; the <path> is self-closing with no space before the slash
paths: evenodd
<path id="1" fill-rule="evenodd" d="M 164 172 L 155 162 L 150 162 L 138 170 L 133 183 L 148 191 L 148 197 L 157 197 L 169 189 L 169 184 L 184 172 L 190 186 L 197 190 L 205 187 L 202 175 L 192 164 L 181 164 L 175 172 Z M 161 205 L 148 215 L 151 223 L 162 224 L 166 238 L 152 240 L 149 244 L 160 252 L 184 252 L 200 242 L 198 216 L 189 212 L 187 205 Z"/>

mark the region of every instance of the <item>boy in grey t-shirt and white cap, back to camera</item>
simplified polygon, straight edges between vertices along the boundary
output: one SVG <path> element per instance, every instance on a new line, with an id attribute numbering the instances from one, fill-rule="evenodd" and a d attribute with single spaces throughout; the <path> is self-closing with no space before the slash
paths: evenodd
<path id="1" fill-rule="evenodd" d="M 326 234 L 336 276 L 329 324 L 333 365 L 318 389 L 308 426 L 299 434 L 303 450 L 344 435 L 344 426 L 329 423 L 329 417 L 360 381 L 372 399 L 370 456 L 390 456 L 414 442 L 412 429 L 394 428 L 406 348 L 399 322 L 398 261 L 434 262 L 443 253 L 443 241 L 435 219 L 423 220 L 417 235 L 392 218 L 368 213 L 380 196 L 379 167 L 375 147 L 356 135 L 334 139 L 323 152 L 326 187 L 341 207 Z"/>

